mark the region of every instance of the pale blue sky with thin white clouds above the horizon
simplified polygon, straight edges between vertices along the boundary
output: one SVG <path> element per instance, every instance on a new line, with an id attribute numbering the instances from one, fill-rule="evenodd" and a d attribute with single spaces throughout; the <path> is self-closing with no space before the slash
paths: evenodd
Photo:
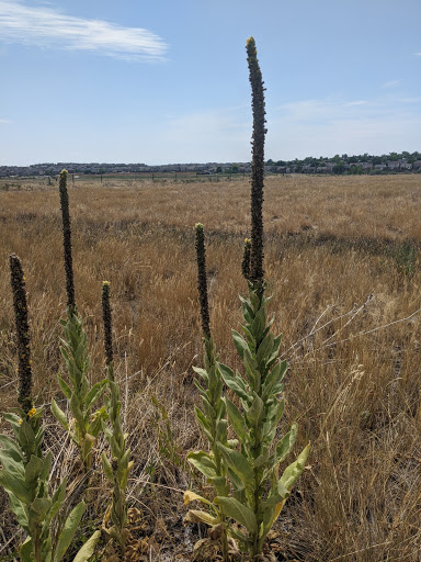
<path id="1" fill-rule="evenodd" d="M 420 0 L 0 0 L 0 166 L 421 151 Z"/>

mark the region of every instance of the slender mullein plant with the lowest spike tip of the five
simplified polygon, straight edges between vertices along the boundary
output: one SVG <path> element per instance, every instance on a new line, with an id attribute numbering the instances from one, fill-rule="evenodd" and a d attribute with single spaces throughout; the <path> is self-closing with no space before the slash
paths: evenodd
<path id="1" fill-rule="evenodd" d="M 101 460 L 106 477 L 113 485 L 113 497 L 111 506 L 104 520 L 104 530 L 116 541 L 120 547 L 122 560 L 126 552 L 126 540 L 128 537 L 127 526 L 127 481 L 133 467 L 130 461 L 130 449 L 127 447 L 127 435 L 123 432 L 118 384 L 114 378 L 114 353 L 112 339 L 112 312 L 110 304 L 110 283 L 102 284 L 102 312 L 104 323 L 104 347 L 106 359 L 106 374 L 109 394 L 105 395 L 105 408 L 109 424 L 103 422 L 105 438 L 111 449 L 111 459 L 105 452 Z M 105 524 L 111 521 L 111 527 Z"/>

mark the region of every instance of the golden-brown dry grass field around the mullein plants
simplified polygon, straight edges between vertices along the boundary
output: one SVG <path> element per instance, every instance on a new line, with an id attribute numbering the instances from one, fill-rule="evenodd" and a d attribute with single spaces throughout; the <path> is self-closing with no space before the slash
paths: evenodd
<path id="1" fill-rule="evenodd" d="M 62 401 L 57 191 L 31 182 L 4 190 L 0 182 L 0 411 L 16 405 L 11 252 L 26 274 L 37 404 Z M 130 561 L 192 560 L 206 532 L 182 522 L 186 486 L 206 493 L 185 462 L 190 450 L 206 447 L 193 414 L 198 395 L 191 367 L 202 361 L 193 226 L 200 221 L 206 232 L 213 336 L 221 361 L 236 366 L 230 329 L 238 328 L 238 294 L 247 289 L 240 263 L 248 181 L 104 180 L 70 186 L 69 196 L 93 381 L 104 376 L 101 282 L 112 288 L 116 375 L 135 460 Z M 284 423 L 299 424 L 296 451 L 312 443 L 270 537 L 280 561 L 420 560 L 420 211 L 421 176 L 266 180 L 270 312 L 289 362 Z M 80 467 L 47 413 L 54 474 L 68 475 L 76 488 Z M 100 470 L 92 487 L 90 529 L 109 498 Z M 14 560 L 20 542 L 8 505 L 1 492 L 0 561 Z M 203 554 L 212 559 L 218 560 Z"/>

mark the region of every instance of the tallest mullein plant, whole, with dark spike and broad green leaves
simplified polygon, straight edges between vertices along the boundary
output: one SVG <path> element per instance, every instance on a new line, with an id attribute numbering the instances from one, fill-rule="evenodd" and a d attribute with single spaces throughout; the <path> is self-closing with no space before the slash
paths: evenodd
<path id="1" fill-rule="evenodd" d="M 280 476 L 280 464 L 292 450 L 297 426 L 278 437 L 278 423 L 284 413 L 283 376 L 286 362 L 281 361 L 281 336 L 271 331 L 268 321 L 263 270 L 263 171 L 265 110 L 262 75 L 252 37 L 247 42 L 248 65 L 252 89 L 253 139 L 251 180 L 251 248 L 246 241 L 242 270 L 248 279 L 249 299 L 241 297 L 243 335 L 232 330 L 242 372 L 217 367 L 236 401 L 225 397 L 229 422 L 240 448 L 232 450 L 219 442 L 218 448 L 228 467 L 234 494 L 220 495 L 216 503 L 239 527 L 230 533 L 252 560 L 261 560 L 263 543 L 278 517 L 292 487 L 301 474 L 308 456 L 307 446 Z M 250 250 L 250 252 L 249 252 Z"/>

